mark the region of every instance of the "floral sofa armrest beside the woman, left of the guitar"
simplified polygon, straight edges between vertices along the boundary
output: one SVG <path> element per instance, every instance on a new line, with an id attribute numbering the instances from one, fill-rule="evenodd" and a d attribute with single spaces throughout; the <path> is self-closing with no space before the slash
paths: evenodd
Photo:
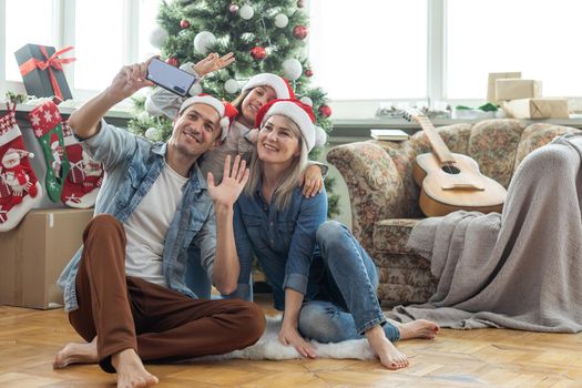
<path id="1" fill-rule="evenodd" d="M 402 177 L 389 154 L 374 141 L 333 147 L 327 160 L 348 186 L 354 236 L 371 253 L 376 222 L 409 216 Z"/>

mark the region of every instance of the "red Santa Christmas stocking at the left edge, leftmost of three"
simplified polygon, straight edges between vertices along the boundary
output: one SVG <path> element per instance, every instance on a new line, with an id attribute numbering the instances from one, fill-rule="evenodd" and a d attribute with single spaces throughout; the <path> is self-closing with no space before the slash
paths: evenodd
<path id="1" fill-rule="evenodd" d="M 18 225 L 42 200 L 42 188 L 29 163 L 14 108 L 0 118 L 0 232 Z"/>

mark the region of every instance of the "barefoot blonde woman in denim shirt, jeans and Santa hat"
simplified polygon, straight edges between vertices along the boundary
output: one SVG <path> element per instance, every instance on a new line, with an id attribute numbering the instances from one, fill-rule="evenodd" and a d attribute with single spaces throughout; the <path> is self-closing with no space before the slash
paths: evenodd
<path id="1" fill-rule="evenodd" d="M 307 153 L 325 141 L 314 121 L 310 106 L 297 100 L 272 101 L 256 116 L 261 130 L 249 181 L 234 210 L 241 277 L 231 296 L 251 298 L 247 279 L 255 255 L 275 307 L 284 310 L 283 344 L 315 357 L 303 337 L 337 343 L 365 335 L 385 367 L 404 368 L 408 359 L 391 343 L 433 338 L 439 328 L 428 320 L 388 323 L 368 254 L 347 227 L 326 222 L 325 193 L 306 198 L 296 187 Z"/>

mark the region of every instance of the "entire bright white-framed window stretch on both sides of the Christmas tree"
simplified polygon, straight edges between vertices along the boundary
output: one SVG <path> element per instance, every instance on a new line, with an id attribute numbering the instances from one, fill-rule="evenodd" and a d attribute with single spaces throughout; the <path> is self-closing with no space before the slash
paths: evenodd
<path id="1" fill-rule="evenodd" d="M 14 59 L 23 44 L 72 44 L 69 84 L 75 99 L 91 98 L 123 64 L 160 53 L 150 43 L 160 1 L 0 0 L 0 93 L 23 92 Z M 521 71 L 545 96 L 582 96 L 580 0 L 306 3 L 306 54 L 314 84 L 339 108 L 334 118 L 371 118 L 385 102 L 480 104 L 489 72 Z"/>

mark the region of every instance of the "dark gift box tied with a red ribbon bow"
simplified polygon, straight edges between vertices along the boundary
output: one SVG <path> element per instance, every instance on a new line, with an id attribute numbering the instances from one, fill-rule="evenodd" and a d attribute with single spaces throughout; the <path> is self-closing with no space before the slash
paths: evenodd
<path id="1" fill-rule="evenodd" d="M 69 45 L 55 51 L 52 47 L 29 43 L 14 53 L 29 95 L 57 96 L 61 101 L 72 99 L 71 90 L 64 78 L 63 64 L 76 59 L 59 58 L 72 49 Z"/>

